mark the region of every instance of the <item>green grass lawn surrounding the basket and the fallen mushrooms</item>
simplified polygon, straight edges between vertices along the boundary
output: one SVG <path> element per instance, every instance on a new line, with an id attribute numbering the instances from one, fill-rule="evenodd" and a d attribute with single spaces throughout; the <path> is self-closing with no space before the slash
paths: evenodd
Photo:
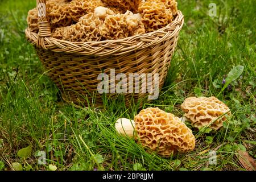
<path id="1" fill-rule="evenodd" d="M 148 154 L 114 129 L 116 119 L 133 118 L 139 110 L 121 103 L 85 109 L 61 101 L 24 36 L 27 11 L 36 1 L 0 1 L 0 170 L 13 169 L 13 162 L 26 170 L 47 170 L 48 164 L 58 170 L 244 170 L 237 149 L 256 157 L 255 1 L 178 2 L 185 24 L 170 71 L 159 99 L 144 107 L 181 117 L 185 98 L 218 96 L 232 111 L 228 125 L 210 133 L 193 129 L 196 148 L 188 154 L 167 159 Z M 211 2 L 218 17 L 208 15 Z M 244 67 L 241 77 L 222 92 L 222 80 L 237 65 Z M 22 159 L 18 151 L 27 146 L 31 155 Z M 217 165 L 208 163 L 210 150 L 217 152 Z M 46 152 L 47 165 L 38 164 L 36 151 Z"/>

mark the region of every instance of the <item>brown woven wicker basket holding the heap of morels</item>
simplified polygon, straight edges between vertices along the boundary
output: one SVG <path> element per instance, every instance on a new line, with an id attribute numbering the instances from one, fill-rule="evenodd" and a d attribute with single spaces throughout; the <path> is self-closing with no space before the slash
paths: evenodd
<path id="1" fill-rule="evenodd" d="M 37 0 L 39 33 L 27 28 L 26 37 L 35 46 L 48 76 L 61 90 L 63 100 L 102 105 L 102 94 L 97 94 L 100 82 L 97 78 L 100 73 L 110 75 L 110 69 L 115 69 L 115 74 L 125 73 L 127 77 L 129 73 L 158 73 L 159 89 L 162 88 L 184 23 L 180 11 L 171 24 L 158 31 L 121 40 L 84 43 L 52 38 L 43 7 L 46 7 L 46 0 Z M 148 96 L 142 93 L 122 95 L 126 105 Z"/>

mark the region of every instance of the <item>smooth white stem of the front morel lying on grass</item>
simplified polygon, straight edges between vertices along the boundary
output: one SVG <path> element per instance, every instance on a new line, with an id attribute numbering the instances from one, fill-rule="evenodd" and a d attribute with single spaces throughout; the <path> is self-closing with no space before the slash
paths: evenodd
<path id="1" fill-rule="evenodd" d="M 135 123 L 131 119 L 119 118 L 115 122 L 115 129 L 119 134 L 127 135 L 128 137 L 133 137 Z"/>

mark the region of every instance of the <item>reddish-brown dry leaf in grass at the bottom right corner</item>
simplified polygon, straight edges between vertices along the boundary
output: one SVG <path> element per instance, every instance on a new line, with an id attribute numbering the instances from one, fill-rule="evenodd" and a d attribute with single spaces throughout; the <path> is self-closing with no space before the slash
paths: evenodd
<path id="1" fill-rule="evenodd" d="M 248 154 L 247 151 L 239 150 L 237 153 L 238 153 L 237 158 L 243 168 L 245 168 L 247 171 L 255 171 L 256 170 L 256 162 Z"/>

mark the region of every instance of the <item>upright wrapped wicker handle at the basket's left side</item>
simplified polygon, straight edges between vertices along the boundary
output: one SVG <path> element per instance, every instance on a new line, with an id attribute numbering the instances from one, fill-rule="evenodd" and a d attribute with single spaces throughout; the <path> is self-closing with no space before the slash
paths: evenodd
<path id="1" fill-rule="evenodd" d="M 51 34 L 51 24 L 47 18 L 47 11 L 46 11 L 46 0 L 36 0 L 36 8 L 38 9 L 38 40 L 36 46 L 46 48 L 44 44 L 44 38 L 50 37 Z"/>

